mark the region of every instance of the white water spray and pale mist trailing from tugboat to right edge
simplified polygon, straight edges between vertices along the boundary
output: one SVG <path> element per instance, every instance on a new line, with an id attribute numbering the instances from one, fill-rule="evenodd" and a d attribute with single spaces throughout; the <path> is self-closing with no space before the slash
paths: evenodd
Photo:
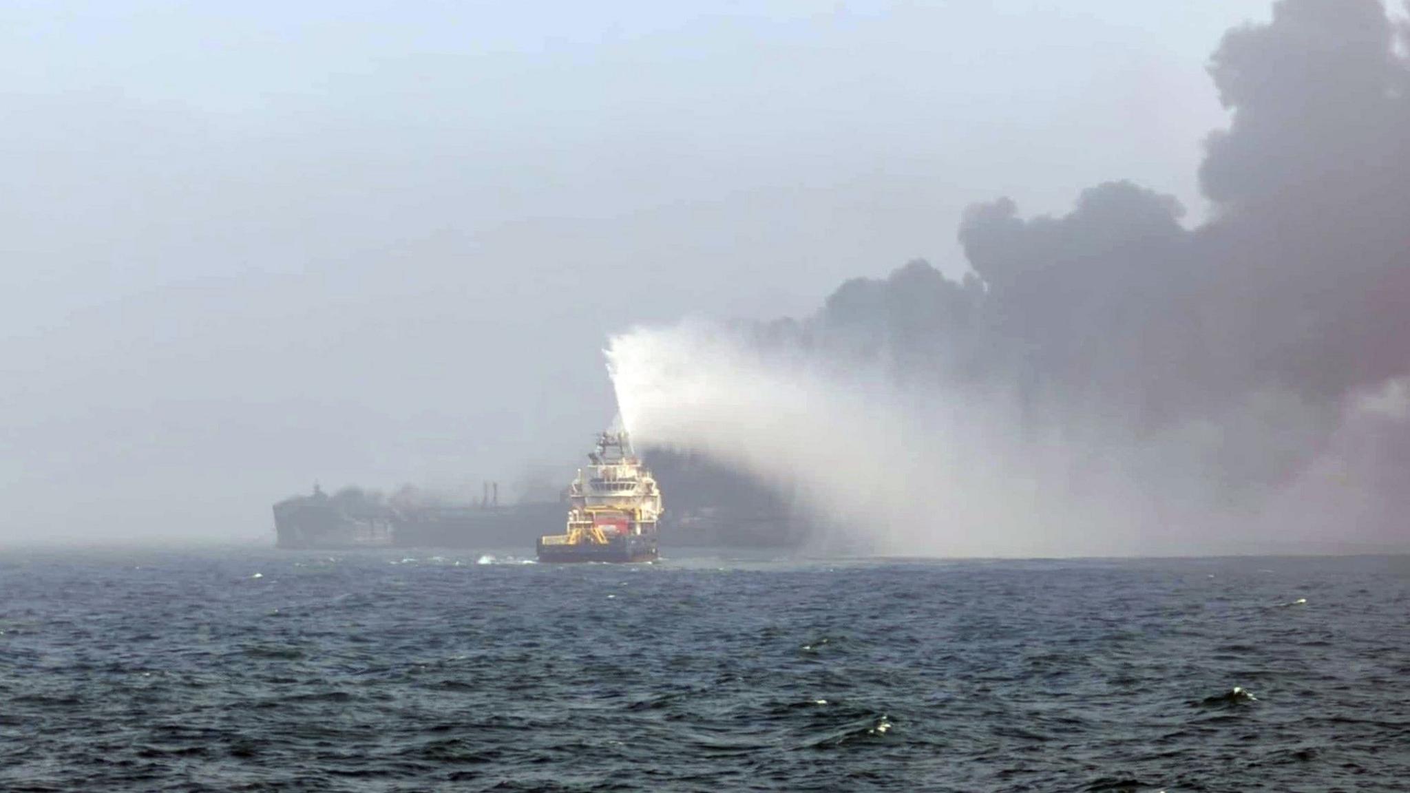
<path id="1" fill-rule="evenodd" d="M 1400 409 L 1402 387 L 1352 402 L 1341 444 L 1287 485 L 1231 505 L 1208 485 L 1211 454 L 1238 426 L 1300 423 L 1297 405 L 1256 395 L 1228 422 L 1136 443 L 1100 419 L 1039 430 L 1003 392 L 907 388 L 880 367 L 761 349 L 708 322 L 615 336 L 606 357 L 639 446 L 790 488 L 825 549 L 900 556 L 1330 550 L 1323 540 L 1354 539 L 1363 512 L 1361 478 L 1347 473 L 1365 457 L 1356 428 L 1368 415 L 1397 420 L 1386 413 Z"/>

